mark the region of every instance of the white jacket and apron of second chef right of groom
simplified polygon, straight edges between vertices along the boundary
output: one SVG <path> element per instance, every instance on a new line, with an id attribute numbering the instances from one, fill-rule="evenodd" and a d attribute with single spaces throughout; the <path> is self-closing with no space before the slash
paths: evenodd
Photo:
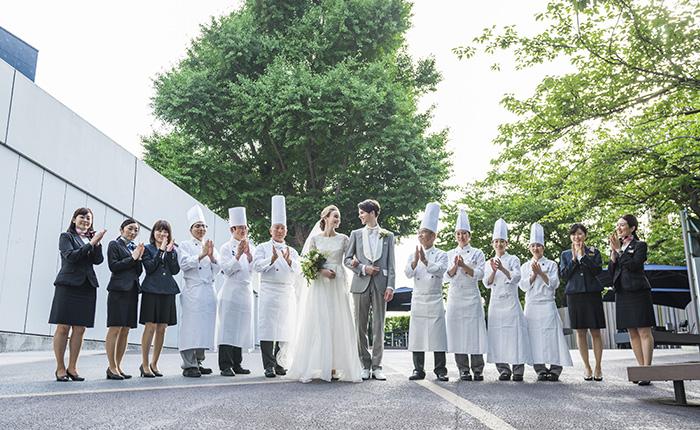
<path id="1" fill-rule="evenodd" d="M 469 276 L 457 268 L 454 277 L 445 272 L 444 281 L 450 284 L 447 295 L 447 350 L 456 354 L 486 354 L 486 318 L 478 282 L 484 276 L 484 253 L 480 249 L 466 246 L 457 247 L 447 254 L 448 267 L 454 266 L 456 255 L 474 269 Z"/>

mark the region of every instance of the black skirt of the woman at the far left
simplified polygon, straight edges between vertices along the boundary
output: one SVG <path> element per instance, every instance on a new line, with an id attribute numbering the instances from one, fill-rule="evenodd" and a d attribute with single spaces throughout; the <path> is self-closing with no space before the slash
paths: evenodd
<path id="1" fill-rule="evenodd" d="M 49 324 L 94 327 L 96 302 L 97 288 L 88 281 L 80 287 L 56 285 Z"/>

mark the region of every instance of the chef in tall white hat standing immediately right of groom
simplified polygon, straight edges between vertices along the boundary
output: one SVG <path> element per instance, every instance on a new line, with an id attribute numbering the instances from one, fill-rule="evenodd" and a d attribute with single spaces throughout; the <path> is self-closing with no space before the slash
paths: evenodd
<path id="1" fill-rule="evenodd" d="M 438 231 L 440 205 L 428 203 L 418 230 L 419 246 L 406 262 L 406 277 L 413 279 L 411 320 L 408 329 L 408 350 L 413 353 L 411 381 L 425 378 L 425 352 L 433 351 L 435 375 L 447 381 L 445 351 L 445 306 L 442 299 L 442 278 L 447 270 L 447 253 L 434 246 Z"/>

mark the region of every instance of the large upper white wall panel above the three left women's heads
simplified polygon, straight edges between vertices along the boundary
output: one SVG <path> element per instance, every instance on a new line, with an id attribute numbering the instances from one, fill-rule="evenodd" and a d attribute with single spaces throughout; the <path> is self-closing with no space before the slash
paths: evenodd
<path id="1" fill-rule="evenodd" d="M 131 211 L 132 187 L 117 187 L 115 181 L 133 179 L 136 158 L 19 73 L 7 145 L 107 204 Z"/>

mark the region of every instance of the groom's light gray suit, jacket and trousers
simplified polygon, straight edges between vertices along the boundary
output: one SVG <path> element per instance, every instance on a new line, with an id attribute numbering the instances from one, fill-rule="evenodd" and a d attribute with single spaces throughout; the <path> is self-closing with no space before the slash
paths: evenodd
<path id="1" fill-rule="evenodd" d="M 350 233 L 350 244 L 345 252 L 345 266 L 355 274 L 352 277 L 350 292 L 355 307 L 355 326 L 357 327 L 357 348 L 362 367 L 365 369 L 381 369 L 384 354 L 384 316 L 386 302 L 384 292 L 387 288 L 394 289 L 396 273 L 394 269 L 394 234 L 386 232 L 379 239 L 377 254 L 379 258 L 370 261 L 366 257 L 363 246 L 363 231 L 354 230 Z M 380 230 L 376 232 L 380 234 Z M 381 252 L 379 252 L 381 249 Z M 353 258 L 360 264 L 353 267 Z M 379 273 L 370 276 L 365 273 L 366 266 L 379 267 Z M 367 325 L 370 308 L 372 309 L 372 354 L 369 353 Z"/>

